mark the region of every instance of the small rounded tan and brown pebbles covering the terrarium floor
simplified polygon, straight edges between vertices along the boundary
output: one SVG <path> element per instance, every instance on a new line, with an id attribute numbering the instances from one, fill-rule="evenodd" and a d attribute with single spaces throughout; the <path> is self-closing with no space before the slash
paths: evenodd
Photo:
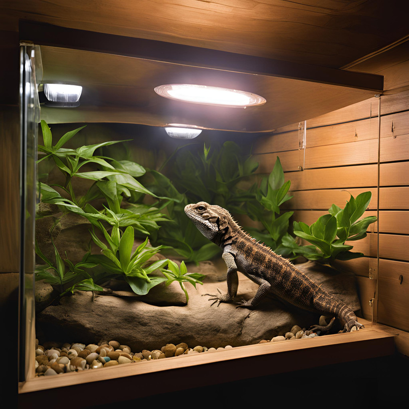
<path id="1" fill-rule="evenodd" d="M 274 337 L 271 340 L 262 340 L 266 342 L 289 341 L 302 338 L 313 338 L 319 335 L 319 331 L 314 333 L 294 325 L 290 332 L 285 336 Z M 38 345 L 35 340 L 35 373 L 36 376 L 59 375 L 67 372 L 86 371 L 89 369 L 98 369 L 115 365 L 135 364 L 143 361 L 177 357 L 186 354 L 200 354 L 212 351 L 220 351 L 232 348 L 226 345 L 224 348 L 207 348 L 195 346 L 190 348 L 186 343 L 167 344 L 160 350 L 142 350 L 141 352 L 132 352 L 127 345 L 121 345 L 118 341 L 102 340 L 97 344 L 45 342 L 44 345 Z"/>

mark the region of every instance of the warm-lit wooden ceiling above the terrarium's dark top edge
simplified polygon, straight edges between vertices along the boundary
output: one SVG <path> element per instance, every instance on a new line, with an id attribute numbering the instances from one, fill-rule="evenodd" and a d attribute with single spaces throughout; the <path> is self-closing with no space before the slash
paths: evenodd
<path id="1" fill-rule="evenodd" d="M 63 27 L 174 42 L 241 54 L 341 67 L 406 35 L 394 1 L 272 0 L 169 1 L 15 0 L 1 6 L 10 16 Z M 92 15 L 92 19 L 89 16 Z M 8 17 L 8 18 L 7 18 Z M 394 29 L 385 21 L 394 21 Z"/>

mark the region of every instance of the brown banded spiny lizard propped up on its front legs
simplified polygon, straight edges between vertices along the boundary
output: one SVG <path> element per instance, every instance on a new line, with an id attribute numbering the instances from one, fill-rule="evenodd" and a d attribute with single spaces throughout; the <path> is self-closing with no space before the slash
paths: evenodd
<path id="1" fill-rule="evenodd" d="M 251 309 L 271 292 L 296 307 L 333 316 L 327 326 L 314 325 L 312 331 L 328 332 L 335 318 L 344 324 L 342 332 L 350 332 L 354 326 L 357 330 L 364 327 L 350 307 L 324 291 L 288 259 L 257 242 L 223 207 L 199 202 L 185 206 L 185 213 L 206 238 L 222 249 L 221 257 L 227 267 L 227 293 L 217 288 L 218 294 L 204 294 L 211 297 L 211 305 L 217 303 L 218 307 L 222 302 L 233 302 L 238 289 L 237 271 L 240 271 L 259 287 L 253 298 L 238 302 L 237 307 Z"/>

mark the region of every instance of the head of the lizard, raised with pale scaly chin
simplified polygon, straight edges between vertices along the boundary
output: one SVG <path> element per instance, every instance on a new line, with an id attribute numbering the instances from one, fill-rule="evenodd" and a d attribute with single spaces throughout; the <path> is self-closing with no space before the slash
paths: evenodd
<path id="1" fill-rule="evenodd" d="M 185 213 L 209 240 L 212 240 L 218 232 L 228 226 L 230 218 L 229 212 L 223 207 L 209 205 L 206 202 L 187 205 Z"/>

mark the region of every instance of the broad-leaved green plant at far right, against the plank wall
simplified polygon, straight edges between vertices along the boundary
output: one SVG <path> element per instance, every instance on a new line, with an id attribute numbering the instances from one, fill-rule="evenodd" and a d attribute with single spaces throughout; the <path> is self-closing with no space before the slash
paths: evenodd
<path id="1" fill-rule="evenodd" d="M 342 209 L 332 205 L 328 212 L 319 217 L 309 226 L 306 223 L 294 222 L 294 234 L 312 245 L 298 246 L 295 240 L 288 240 L 286 244 L 295 254 L 303 255 L 309 260 L 334 259 L 350 260 L 362 257 L 363 253 L 352 252 L 352 245 L 345 241 L 360 240 L 366 237 L 366 230 L 377 220 L 376 216 L 367 216 L 359 220 L 371 201 L 371 192 L 364 192 L 356 199 L 351 195 L 350 200 Z"/>

